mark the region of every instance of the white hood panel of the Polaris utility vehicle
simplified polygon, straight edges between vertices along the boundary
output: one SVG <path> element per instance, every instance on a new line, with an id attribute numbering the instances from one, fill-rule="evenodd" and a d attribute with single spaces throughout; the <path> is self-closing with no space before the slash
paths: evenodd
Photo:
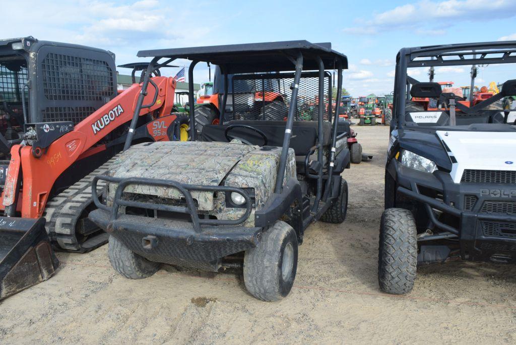
<path id="1" fill-rule="evenodd" d="M 459 183 L 464 169 L 516 170 L 516 133 L 436 131 L 455 157 L 451 178 Z"/>

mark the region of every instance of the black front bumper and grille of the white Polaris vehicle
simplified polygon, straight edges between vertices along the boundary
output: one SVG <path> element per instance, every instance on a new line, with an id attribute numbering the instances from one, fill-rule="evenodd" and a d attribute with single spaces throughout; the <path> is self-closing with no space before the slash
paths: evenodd
<path id="1" fill-rule="evenodd" d="M 388 170 L 396 177 L 396 200 L 417 201 L 417 212 L 428 217 L 428 228 L 445 234 L 436 239 L 458 240 L 462 259 L 516 263 L 516 214 L 497 213 L 490 207 L 516 203 L 516 193 L 509 191 L 516 186 L 454 183 L 446 172 L 428 174 L 396 160 L 391 161 Z M 418 241 L 429 239 L 420 237 Z"/>

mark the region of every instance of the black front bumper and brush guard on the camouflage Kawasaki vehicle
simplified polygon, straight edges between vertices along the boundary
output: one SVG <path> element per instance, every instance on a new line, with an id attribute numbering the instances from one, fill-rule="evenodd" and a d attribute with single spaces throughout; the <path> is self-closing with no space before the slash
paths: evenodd
<path id="1" fill-rule="evenodd" d="M 89 218 L 134 253 L 150 261 L 216 272 L 223 257 L 255 247 L 258 242 L 261 228 L 239 226 L 249 217 L 252 206 L 249 194 L 243 189 L 172 180 L 96 176 L 92 190 L 96 190 L 99 180 L 118 183 L 118 186 L 111 207 L 101 203 L 96 193 L 92 194 L 98 210 L 92 211 Z M 174 188 L 184 196 L 186 207 L 123 200 L 126 187 L 135 184 Z M 245 213 L 238 219 L 200 218 L 190 191 L 238 193 L 246 200 Z M 120 214 L 121 206 L 189 214 L 191 222 Z"/>

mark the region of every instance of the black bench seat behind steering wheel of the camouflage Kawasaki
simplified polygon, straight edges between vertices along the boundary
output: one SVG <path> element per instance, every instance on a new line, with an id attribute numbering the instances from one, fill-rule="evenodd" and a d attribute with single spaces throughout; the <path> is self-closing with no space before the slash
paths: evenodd
<path id="1" fill-rule="evenodd" d="M 202 140 L 206 142 L 227 142 L 228 140 L 224 136 L 224 131 L 231 124 L 245 124 L 261 130 L 269 140 L 267 145 L 279 147 L 283 145 L 283 136 L 286 126 L 285 121 L 233 120 L 225 124 L 208 124 L 203 127 Z M 323 145 L 330 145 L 331 123 L 329 121 L 322 122 L 322 133 L 324 135 Z M 246 139 L 256 145 L 263 144 L 263 139 L 259 134 L 247 129 L 235 128 L 231 130 L 229 134 Z M 317 121 L 294 121 L 290 147 L 294 149 L 296 155 L 306 155 L 316 142 Z"/>

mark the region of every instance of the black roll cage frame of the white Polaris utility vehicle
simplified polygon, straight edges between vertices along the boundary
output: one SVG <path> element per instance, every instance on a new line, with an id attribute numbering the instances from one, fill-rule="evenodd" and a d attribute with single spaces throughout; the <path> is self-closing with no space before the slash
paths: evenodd
<path id="1" fill-rule="evenodd" d="M 410 97 L 410 85 L 418 83 L 407 75 L 407 68 L 436 67 L 458 65 L 487 65 L 516 63 L 516 41 L 460 43 L 446 45 L 421 46 L 402 48 L 396 56 L 396 74 L 394 77 L 393 116 L 396 121 L 391 122 L 391 131 L 401 128 L 405 122 L 406 98 Z M 474 78 L 472 69 L 472 79 Z M 433 75 L 430 76 L 432 79 Z M 503 98 L 503 93 L 494 95 L 475 106 L 459 108 L 466 113 L 473 113 L 489 104 Z M 457 105 L 457 104 L 456 104 Z"/>

